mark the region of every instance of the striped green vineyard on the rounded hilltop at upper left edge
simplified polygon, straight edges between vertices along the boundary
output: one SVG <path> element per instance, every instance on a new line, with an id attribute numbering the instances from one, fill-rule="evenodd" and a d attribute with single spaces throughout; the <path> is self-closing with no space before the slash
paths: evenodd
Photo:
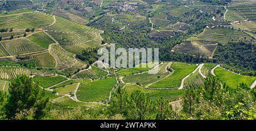
<path id="1" fill-rule="evenodd" d="M 44 28 L 51 25 L 53 22 L 54 19 L 52 15 L 38 11 L 0 16 L 0 28 Z"/>

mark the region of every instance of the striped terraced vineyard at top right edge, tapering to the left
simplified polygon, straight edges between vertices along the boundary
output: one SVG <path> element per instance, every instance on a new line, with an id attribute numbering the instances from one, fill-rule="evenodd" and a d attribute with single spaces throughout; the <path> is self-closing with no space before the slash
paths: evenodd
<path id="1" fill-rule="evenodd" d="M 246 19 L 256 20 L 256 3 L 250 5 L 241 5 L 229 7 L 228 10 L 236 11 L 243 15 Z"/>

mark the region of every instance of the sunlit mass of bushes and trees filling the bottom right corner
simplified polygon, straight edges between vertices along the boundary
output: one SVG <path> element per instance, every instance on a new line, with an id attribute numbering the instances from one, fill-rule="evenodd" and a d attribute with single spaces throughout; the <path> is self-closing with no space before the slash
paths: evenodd
<path id="1" fill-rule="evenodd" d="M 200 89 L 193 87 L 184 95 L 185 119 L 255 119 L 255 89 L 240 84 L 236 89 L 209 77 Z"/>

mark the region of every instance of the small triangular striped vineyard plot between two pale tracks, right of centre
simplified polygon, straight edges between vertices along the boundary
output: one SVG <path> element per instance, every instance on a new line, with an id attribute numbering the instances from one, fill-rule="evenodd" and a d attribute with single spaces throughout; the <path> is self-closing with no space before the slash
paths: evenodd
<path id="1" fill-rule="evenodd" d="M 184 81 L 184 88 L 200 88 L 201 86 L 204 86 L 204 77 L 199 73 L 199 69 Z"/>

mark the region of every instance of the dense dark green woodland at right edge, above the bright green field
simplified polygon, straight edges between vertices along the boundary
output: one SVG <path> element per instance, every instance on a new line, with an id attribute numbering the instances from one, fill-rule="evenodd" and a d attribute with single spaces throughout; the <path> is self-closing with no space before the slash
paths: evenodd
<path id="1" fill-rule="evenodd" d="M 255 76 L 256 46 L 252 43 L 230 42 L 228 45 L 218 45 L 213 56 L 214 63 L 227 64 L 232 71 L 244 75 Z"/>

